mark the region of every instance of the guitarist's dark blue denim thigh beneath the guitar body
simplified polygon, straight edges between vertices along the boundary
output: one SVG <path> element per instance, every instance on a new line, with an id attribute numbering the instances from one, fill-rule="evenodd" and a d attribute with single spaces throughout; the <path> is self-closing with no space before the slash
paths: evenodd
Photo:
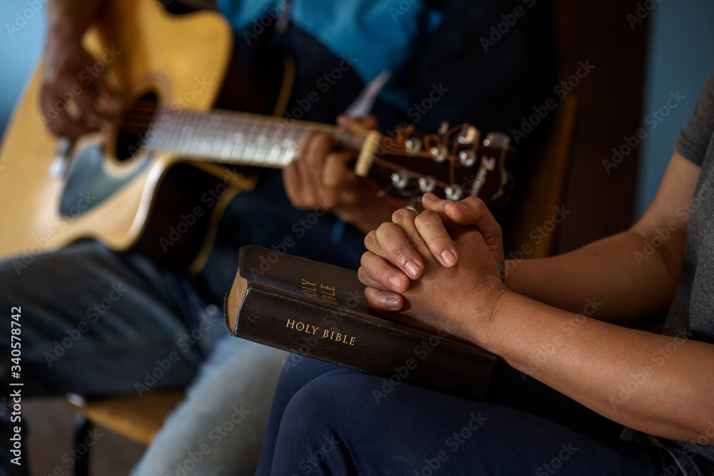
<path id="1" fill-rule="evenodd" d="M 205 307 L 184 278 L 157 269 L 146 258 L 115 253 L 89 240 L 26 264 L 0 263 L 4 397 L 9 380 L 24 383 L 24 399 L 67 392 L 134 393 L 137 383 L 146 382 L 145 372 L 156 368 L 156 360 L 166 360 L 172 352 L 178 360 L 151 388 L 185 386 L 196 374 L 205 350 L 198 344 L 181 345 L 181 338 L 191 316 Z M 10 375 L 13 307 L 21 309 L 19 380 Z M 0 414 L 4 436 L 9 415 Z M 0 460 L 1 473 L 8 459 L 0 455 Z"/>

